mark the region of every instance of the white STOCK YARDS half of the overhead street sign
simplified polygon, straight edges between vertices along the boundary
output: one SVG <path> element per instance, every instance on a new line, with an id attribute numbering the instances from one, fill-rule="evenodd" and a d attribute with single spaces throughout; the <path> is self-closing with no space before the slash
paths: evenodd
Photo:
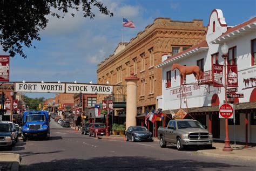
<path id="1" fill-rule="evenodd" d="M 66 83 L 66 93 L 112 94 L 113 86 Z"/>

